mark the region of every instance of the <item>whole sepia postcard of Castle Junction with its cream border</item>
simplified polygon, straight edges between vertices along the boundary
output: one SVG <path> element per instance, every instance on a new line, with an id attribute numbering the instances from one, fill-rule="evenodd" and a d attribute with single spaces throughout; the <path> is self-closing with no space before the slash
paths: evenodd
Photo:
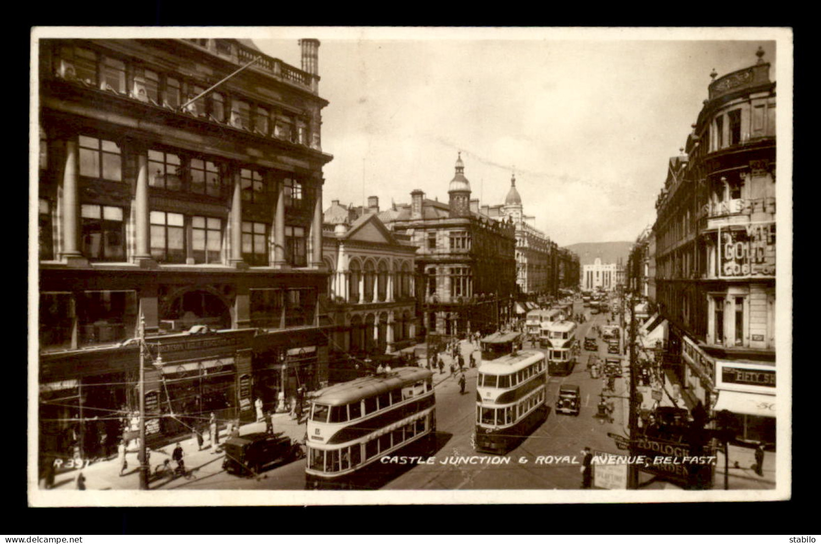
<path id="1" fill-rule="evenodd" d="M 791 29 L 30 39 L 30 506 L 791 497 Z"/>

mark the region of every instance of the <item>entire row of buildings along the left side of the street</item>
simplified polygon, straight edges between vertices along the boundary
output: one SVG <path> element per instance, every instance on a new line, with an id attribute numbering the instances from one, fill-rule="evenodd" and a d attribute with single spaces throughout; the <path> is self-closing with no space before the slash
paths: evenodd
<path id="1" fill-rule="evenodd" d="M 39 40 L 42 453 L 133 431 L 140 364 L 157 441 L 578 284 L 515 186 L 479 212 L 461 158 L 447 204 L 324 209 L 318 49 L 298 68 L 247 40 Z"/>

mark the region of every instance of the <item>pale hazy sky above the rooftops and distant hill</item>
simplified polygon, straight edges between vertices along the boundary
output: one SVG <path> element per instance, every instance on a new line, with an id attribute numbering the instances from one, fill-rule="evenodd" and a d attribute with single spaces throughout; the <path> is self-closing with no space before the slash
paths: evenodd
<path id="1" fill-rule="evenodd" d="M 371 195 L 386 208 L 415 189 L 447 202 L 461 151 L 472 198 L 503 203 L 515 172 L 534 226 L 571 245 L 635 240 L 652 225 L 710 72 L 753 65 L 761 46 L 777 80 L 783 32 L 291 27 L 248 37 L 294 66 L 297 39 L 321 41 L 326 208 Z"/>

